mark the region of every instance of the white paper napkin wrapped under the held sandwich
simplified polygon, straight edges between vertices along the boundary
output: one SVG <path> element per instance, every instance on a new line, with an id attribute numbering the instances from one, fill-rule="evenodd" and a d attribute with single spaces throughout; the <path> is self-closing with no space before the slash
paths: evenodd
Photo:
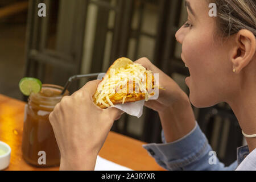
<path id="1" fill-rule="evenodd" d="M 105 73 L 101 73 L 98 75 L 98 80 L 102 80 L 102 78 L 105 76 Z M 158 74 L 154 75 L 155 76 L 155 85 L 158 85 Z M 148 100 L 156 100 L 158 98 L 158 89 L 154 90 L 155 95 L 148 98 Z M 137 102 L 128 102 L 125 104 L 117 104 L 112 107 L 115 107 L 117 109 L 120 109 L 124 111 L 125 113 L 129 115 L 133 115 L 137 118 L 140 118 L 143 114 L 143 106 L 144 106 L 145 101 L 137 101 Z M 111 107 L 110 107 L 111 108 Z"/>

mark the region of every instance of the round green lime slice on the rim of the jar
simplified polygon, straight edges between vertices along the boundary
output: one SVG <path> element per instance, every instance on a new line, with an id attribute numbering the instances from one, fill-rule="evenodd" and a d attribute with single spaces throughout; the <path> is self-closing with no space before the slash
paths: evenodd
<path id="1" fill-rule="evenodd" d="M 38 93 L 42 88 L 42 82 L 37 78 L 22 78 L 19 81 L 19 89 L 25 96 L 30 96 L 32 92 Z"/>

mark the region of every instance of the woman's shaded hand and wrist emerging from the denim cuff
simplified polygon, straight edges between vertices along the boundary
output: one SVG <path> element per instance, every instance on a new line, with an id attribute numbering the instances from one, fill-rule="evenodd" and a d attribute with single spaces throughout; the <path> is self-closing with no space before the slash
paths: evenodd
<path id="1" fill-rule="evenodd" d="M 148 59 L 142 58 L 135 63 L 159 73 L 158 100 L 148 100 L 145 106 L 158 111 L 166 142 L 174 142 L 187 135 L 195 126 L 196 119 L 189 98 L 171 77 L 156 68 Z"/>

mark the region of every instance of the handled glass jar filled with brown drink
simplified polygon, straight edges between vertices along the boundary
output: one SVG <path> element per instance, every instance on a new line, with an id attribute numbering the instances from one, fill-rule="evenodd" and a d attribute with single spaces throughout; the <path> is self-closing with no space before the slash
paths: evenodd
<path id="1" fill-rule="evenodd" d="M 63 87 L 43 84 L 39 93 L 31 93 L 24 111 L 22 153 L 27 163 L 39 167 L 60 165 L 60 151 L 49 114 L 60 102 Z M 65 92 L 67 96 L 69 92 Z"/>

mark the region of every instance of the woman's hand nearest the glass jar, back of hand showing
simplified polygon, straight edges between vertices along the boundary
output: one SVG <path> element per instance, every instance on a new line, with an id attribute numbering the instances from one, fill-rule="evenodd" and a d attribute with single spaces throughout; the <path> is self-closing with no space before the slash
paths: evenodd
<path id="1" fill-rule="evenodd" d="M 94 170 L 98 152 L 113 122 L 123 112 L 100 109 L 92 100 L 100 80 L 90 81 L 65 96 L 49 115 L 61 154 L 61 170 Z"/>

